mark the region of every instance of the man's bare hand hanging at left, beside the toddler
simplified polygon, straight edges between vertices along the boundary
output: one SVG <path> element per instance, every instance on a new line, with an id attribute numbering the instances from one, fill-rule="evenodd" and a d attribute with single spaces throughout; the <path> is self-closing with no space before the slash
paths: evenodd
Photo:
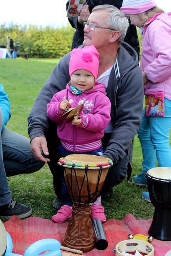
<path id="1" fill-rule="evenodd" d="M 43 136 L 35 137 L 31 140 L 31 152 L 37 160 L 42 162 L 50 162 L 49 158 L 42 156 L 40 149 L 42 149 L 44 155 L 49 155 L 47 141 Z"/>

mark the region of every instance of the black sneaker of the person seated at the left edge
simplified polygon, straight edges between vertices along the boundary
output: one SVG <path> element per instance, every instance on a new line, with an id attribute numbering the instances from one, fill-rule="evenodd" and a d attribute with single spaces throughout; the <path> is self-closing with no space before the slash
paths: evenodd
<path id="1" fill-rule="evenodd" d="M 11 200 L 8 204 L 0 206 L 0 217 L 10 219 L 12 215 L 16 215 L 19 219 L 30 216 L 32 209 L 24 204 Z"/>

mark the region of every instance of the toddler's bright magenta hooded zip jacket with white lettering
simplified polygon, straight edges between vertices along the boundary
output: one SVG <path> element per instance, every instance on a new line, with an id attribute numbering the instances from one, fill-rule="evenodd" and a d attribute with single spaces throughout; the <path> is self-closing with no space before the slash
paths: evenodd
<path id="1" fill-rule="evenodd" d="M 71 107 L 84 104 L 80 112 L 81 124 L 66 123 L 62 115 L 65 110 L 60 109 L 60 102 L 67 99 Z M 69 85 L 66 89 L 56 93 L 47 106 L 48 117 L 58 124 L 57 134 L 62 146 L 74 153 L 83 153 L 101 147 L 101 138 L 104 129 L 110 121 L 111 103 L 105 95 L 105 85 L 95 82 L 94 89 L 89 89 L 81 94 L 73 94 Z"/>

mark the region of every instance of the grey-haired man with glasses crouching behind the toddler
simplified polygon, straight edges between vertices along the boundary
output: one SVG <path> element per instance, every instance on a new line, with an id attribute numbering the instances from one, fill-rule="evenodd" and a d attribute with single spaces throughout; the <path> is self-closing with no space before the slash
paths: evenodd
<path id="1" fill-rule="evenodd" d="M 111 101 L 111 122 L 102 139 L 104 157 L 113 160 L 113 167 L 105 181 L 114 187 L 131 175 L 130 156 L 132 140 L 137 133 L 143 108 L 143 78 L 135 50 L 123 43 L 129 26 L 125 15 L 113 5 L 96 6 L 84 24 L 83 47 L 94 45 L 99 52 L 97 81 L 105 83 Z M 31 151 L 36 159 L 48 162 L 54 178 L 57 198 L 54 208 L 60 208 L 60 173 L 57 165 L 57 125 L 46 114 L 47 103 L 65 88 L 69 77 L 70 53 L 66 54 L 52 71 L 41 89 L 28 117 Z M 44 155 L 41 155 L 42 149 Z"/>

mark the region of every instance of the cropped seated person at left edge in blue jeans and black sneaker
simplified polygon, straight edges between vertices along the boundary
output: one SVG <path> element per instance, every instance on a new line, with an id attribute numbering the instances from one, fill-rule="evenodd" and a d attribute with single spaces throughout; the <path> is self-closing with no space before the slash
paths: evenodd
<path id="1" fill-rule="evenodd" d="M 28 138 L 5 128 L 10 117 L 8 95 L 0 84 L 0 217 L 23 219 L 32 209 L 12 199 L 7 177 L 38 171 L 44 163 L 32 155 Z"/>

